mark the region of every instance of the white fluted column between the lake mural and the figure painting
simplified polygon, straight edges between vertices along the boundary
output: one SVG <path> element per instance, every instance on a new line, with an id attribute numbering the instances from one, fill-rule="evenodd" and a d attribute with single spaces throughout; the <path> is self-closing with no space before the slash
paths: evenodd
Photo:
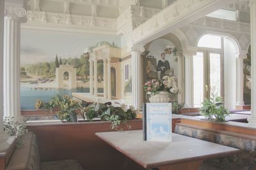
<path id="1" fill-rule="evenodd" d="M 132 105 L 136 109 L 141 109 L 143 98 L 141 53 L 144 52 L 145 48 L 134 45 L 129 50 L 131 50 L 132 57 Z"/>

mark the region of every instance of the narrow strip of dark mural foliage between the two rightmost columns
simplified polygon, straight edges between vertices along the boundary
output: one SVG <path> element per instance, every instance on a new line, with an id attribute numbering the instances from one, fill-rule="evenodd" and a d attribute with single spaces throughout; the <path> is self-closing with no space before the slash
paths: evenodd
<path id="1" fill-rule="evenodd" d="M 251 88 L 248 84 L 251 78 L 251 46 L 247 53 L 247 59 L 244 59 L 244 104 L 251 104 Z"/>

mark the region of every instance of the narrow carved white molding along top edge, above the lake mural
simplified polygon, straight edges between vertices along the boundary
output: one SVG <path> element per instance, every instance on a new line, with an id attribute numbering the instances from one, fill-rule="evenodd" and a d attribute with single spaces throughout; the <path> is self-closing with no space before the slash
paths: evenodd
<path id="1" fill-rule="evenodd" d="M 47 0 L 46 0 L 47 1 Z M 119 7 L 119 0 L 51 0 L 56 2 L 69 2 L 76 4 L 87 4 L 87 5 L 99 5 L 99 6 L 110 6 L 110 7 Z"/>

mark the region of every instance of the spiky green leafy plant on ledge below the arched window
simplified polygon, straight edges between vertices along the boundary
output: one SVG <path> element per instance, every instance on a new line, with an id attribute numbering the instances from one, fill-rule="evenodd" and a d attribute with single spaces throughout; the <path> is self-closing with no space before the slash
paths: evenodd
<path id="1" fill-rule="evenodd" d="M 222 97 L 212 97 L 205 99 L 202 103 L 203 106 L 200 108 L 200 113 L 213 122 L 225 122 L 225 117 L 229 115 L 227 109 L 224 107 Z"/>

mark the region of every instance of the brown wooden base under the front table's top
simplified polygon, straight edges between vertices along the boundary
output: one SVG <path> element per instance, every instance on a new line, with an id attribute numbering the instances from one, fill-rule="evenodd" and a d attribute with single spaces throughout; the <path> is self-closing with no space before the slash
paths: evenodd
<path id="1" fill-rule="evenodd" d="M 180 164 L 173 164 L 170 166 L 158 167 L 159 170 L 198 170 L 203 160 L 196 160 L 191 162 L 184 162 Z"/>

